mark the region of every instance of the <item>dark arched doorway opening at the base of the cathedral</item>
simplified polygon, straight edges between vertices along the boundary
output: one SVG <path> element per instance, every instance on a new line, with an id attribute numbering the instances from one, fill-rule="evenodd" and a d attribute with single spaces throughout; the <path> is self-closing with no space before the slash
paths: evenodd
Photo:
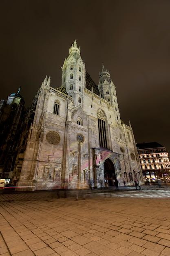
<path id="1" fill-rule="evenodd" d="M 114 186 L 114 180 L 116 179 L 115 175 L 115 166 L 110 159 L 106 159 L 104 162 L 104 180 L 106 186 Z"/>

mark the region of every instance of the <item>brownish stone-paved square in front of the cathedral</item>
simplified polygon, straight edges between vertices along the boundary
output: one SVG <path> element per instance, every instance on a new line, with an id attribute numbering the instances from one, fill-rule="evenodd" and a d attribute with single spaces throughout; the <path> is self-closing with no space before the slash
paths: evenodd
<path id="1" fill-rule="evenodd" d="M 0 256 L 169 256 L 170 187 L 0 194 Z"/>

